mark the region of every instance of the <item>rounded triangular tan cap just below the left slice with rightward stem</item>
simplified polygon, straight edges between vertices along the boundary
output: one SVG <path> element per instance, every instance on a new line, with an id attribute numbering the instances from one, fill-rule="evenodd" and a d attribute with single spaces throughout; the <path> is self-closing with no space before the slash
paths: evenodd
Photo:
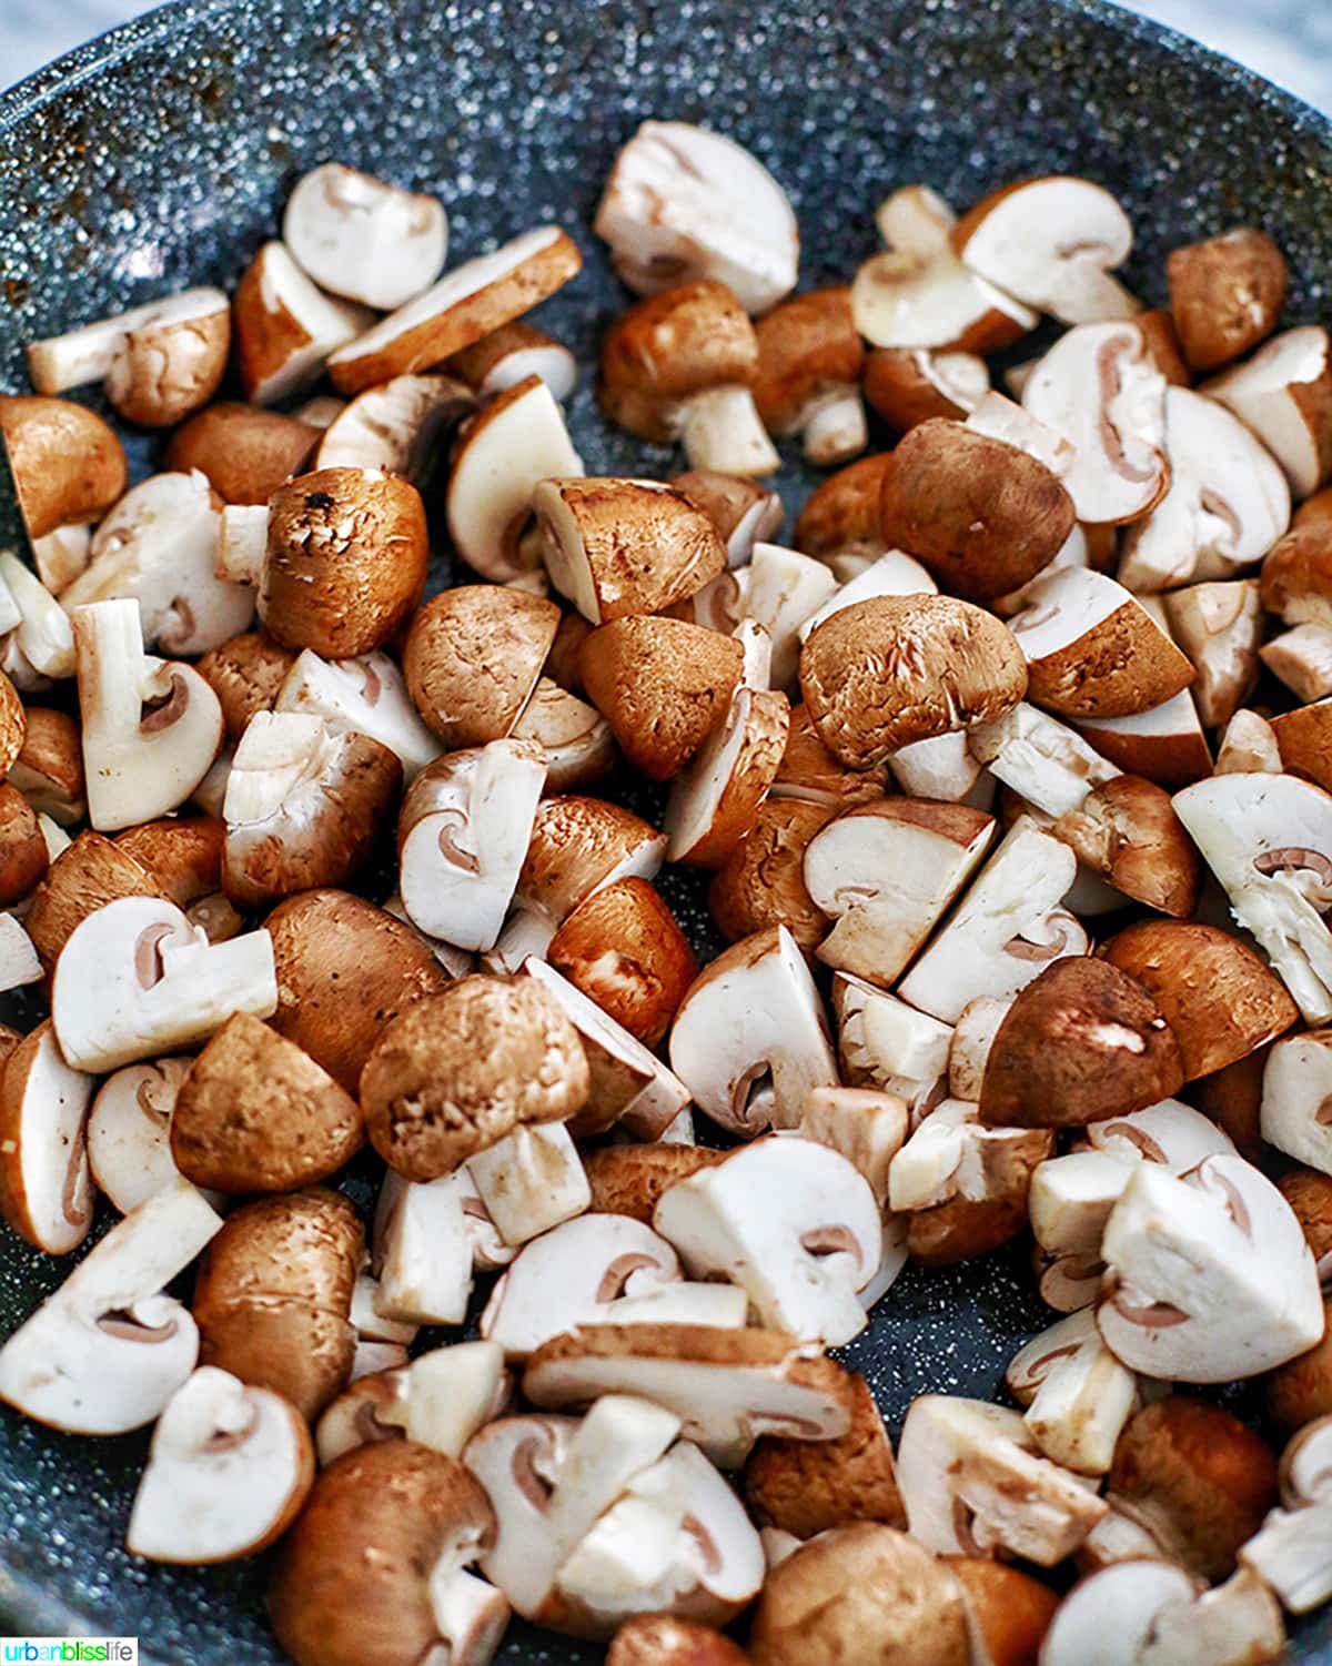
<path id="1" fill-rule="evenodd" d="M 360 1106 L 307 1053 L 235 1013 L 177 1095 L 175 1166 L 217 1191 L 293 1191 L 327 1180 L 365 1140 Z"/>

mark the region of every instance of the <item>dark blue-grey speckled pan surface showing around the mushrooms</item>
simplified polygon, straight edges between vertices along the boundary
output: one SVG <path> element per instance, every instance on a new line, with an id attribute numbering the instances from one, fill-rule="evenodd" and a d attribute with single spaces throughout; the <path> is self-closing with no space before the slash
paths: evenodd
<path id="1" fill-rule="evenodd" d="M 452 258 L 545 218 L 588 270 L 542 322 L 588 363 L 622 297 L 588 233 L 617 145 L 647 115 L 712 123 L 790 192 L 804 280 L 874 248 L 892 187 L 957 203 L 1032 172 L 1117 192 L 1139 230 L 1129 270 L 1162 298 L 1174 243 L 1235 220 L 1290 255 L 1292 315 L 1319 317 L 1332 270 L 1332 130 L 1292 98 L 1180 37 L 1095 3 L 862 0 L 215 0 L 177 5 L 0 98 L 0 387 L 25 387 L 22 343 L 173 288 L 230 283 L 272 235 L 290 183 L 325 158 L 448 205 Z M 590 470 L 667 465 L 605 433 L 587 382 L 572 426 Z M 137 466 L 150 466 L 147 450 Z M 784 475 L 789 501 L 809 490 Z M 0 545 L 18 536 L 0 478 Z M 440 568 L 440 578 L 447 563 Z M 702 935 L 697 886 L 667 878 Z M 30 1023 L 28 1006 L 22 1021 Z M 8 1331 L 63 1268 L 0 1245 Z M 850 1348 L 890 1421 L 925 1389 L 992 1394 L 1042 1323 L 1020 1256 L 909 1274 Z M 157 1569 L 122 1536 L 147 1438 L 82 1443 L 0 1416 L 0 1629 L 138 1633 L 160 1666 L 280 1659 L 262 1566 Z M 1297 1654 L 1332 1659 L 1332 1621 Z M 597 1649 L 513 1628 L 518 1663 Z"/>

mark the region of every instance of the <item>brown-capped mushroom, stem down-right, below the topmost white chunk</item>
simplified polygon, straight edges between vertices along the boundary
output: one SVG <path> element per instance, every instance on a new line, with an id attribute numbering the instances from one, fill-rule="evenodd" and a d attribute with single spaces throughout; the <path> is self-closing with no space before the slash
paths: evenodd
<path id="1" fill-rule="evenodd" d="M 597 400 L 617 426 L 685 450 L 690 468 L 770 475 L 779 456 L 752 388 L 760 357 L 737 297 L 714 278 L 660 290 L 602 338 Z"/>

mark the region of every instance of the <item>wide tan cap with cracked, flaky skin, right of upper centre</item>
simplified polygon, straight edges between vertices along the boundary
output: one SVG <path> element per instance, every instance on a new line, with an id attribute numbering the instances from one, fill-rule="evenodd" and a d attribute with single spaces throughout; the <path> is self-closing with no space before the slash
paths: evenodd
<path id="1" fill-rule="evenodd" d="M 819 738 L 849 768 L 1004 716 L 1027 688 L 1000 620 L 955 596 L 874 596 L 825 620 L 800 651 Z"/>

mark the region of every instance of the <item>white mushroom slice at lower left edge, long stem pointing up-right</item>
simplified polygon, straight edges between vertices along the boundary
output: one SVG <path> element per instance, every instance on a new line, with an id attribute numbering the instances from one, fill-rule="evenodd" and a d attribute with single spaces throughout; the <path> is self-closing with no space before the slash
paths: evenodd
<path id="1" fill-rule="evenodd" d="M 162 1291 L 220 1228 L 183 1180 L 127 1215 L 0 1348 L 0 1399 L 75 1434 L 152 1423 L 198 1354 L 190 1309 Z"/>

